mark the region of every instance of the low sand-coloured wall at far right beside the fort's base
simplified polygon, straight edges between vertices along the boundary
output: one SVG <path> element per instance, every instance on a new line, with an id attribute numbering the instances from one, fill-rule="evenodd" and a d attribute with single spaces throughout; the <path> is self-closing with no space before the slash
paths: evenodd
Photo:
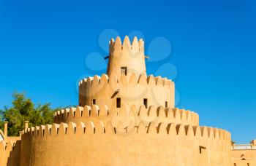
<path id="1" fill-rule="evenodd" d="M 233 166 L 255 166 L 256 149 L 232 149 L 231 159 Z"/>

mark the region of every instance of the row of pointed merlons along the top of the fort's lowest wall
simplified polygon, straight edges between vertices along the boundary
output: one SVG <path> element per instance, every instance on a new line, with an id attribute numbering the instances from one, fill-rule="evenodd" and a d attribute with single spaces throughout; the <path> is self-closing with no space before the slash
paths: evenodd
<path id="1" fill-rule="evenodd" d="M 173 123 L 154 123 L 150 122 L 147 125 L 140 122 L 138 125 L 130 123 L 125 125 L 123 122 L 118 122 L 118 125 L 113 125 L 111 122 L 79 122 L 61 123 L 53 125 L 41 125 L 23 130 L 22 139 L 30 138 L 48 138 L 61 137 L 67 135 L 102 135 L 102 134 L 156 134 L 156 135 L 171 135 L 178 137 L 196 137 L 216 140 L 230 139 L 230 133 L 225 130 L 213 127 L 199 127 L 194 125 L 181 125 Z M 12 149 L 12 144 L 4 146 L 2 143 L 1 149 Z"/>

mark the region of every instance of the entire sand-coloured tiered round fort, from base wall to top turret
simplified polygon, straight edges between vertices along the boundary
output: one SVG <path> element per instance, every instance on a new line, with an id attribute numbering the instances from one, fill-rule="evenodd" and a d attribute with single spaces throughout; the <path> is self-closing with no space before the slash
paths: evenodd
<path id="1" fill-rule="evenodd" d="M 230 166 L 230 133 L 175 107 L 174 82 L 146 75 L 142 39 L 121 43 L 110 41 L 107 74 L 79 82 L 79 106 L 3 137 L 0 166 Z"/>

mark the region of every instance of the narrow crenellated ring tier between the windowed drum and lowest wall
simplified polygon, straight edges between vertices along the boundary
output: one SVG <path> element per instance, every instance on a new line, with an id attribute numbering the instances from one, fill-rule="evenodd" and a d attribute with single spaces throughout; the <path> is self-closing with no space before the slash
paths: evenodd
<path id="1" fill-rule="evenodd" d="M 55 112 L 53 115 L 54 123 L 61 122 L 97 122 L 102 121 L 105 124 L 112 122 L 116 124 L 122 121 L 126 125 L 129 122 L 138 125 L 140 122 L 148 124 L 150 122 L 165 122 L 183 125 L 199 125 L 199 116 L 195 112 L 185 111 L 179 108 L 164 108 L 162 106 L 149 106 L 146 108 L 144 105 L 136 108 L 135 105 L 128 106 L 123 104 L 121 108 L 113 108 L 112 110 L 106 105 L 93 105 L 77 108 L 66 108 L 61 111 Z"/>

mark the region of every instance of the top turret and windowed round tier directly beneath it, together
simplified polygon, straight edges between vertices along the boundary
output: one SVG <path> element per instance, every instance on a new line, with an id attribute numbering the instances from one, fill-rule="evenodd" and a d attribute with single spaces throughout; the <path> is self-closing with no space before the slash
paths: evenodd
<path id="1" fill-rule="evenodd" d="M 79 106 L 105 104 L 120 108 L 122 103 L 174 108 L 175 85 L 161 76 L 147 76 L 143 39 L 130 44 L 116 37 L 109 42 L 107 74 L 89 77 L 79 84 Z"/>

